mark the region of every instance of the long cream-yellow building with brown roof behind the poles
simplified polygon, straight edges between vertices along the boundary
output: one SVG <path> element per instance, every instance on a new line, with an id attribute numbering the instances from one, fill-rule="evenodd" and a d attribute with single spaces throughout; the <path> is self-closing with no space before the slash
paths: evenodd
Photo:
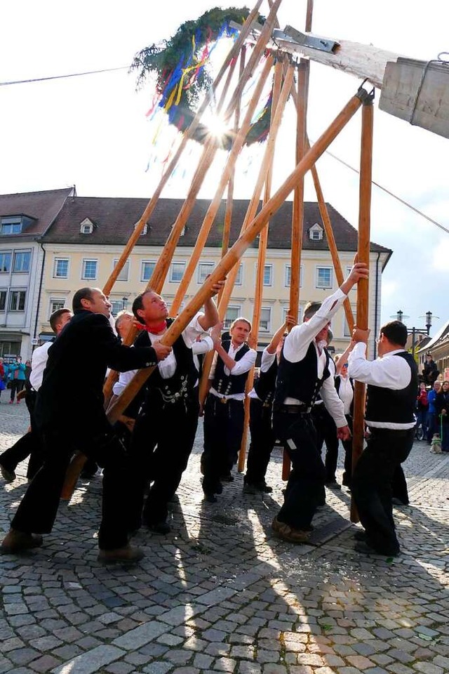
<path id="1" fill-rule="evenodd" d="M 146 199 L 124 198 L 73 197 L 65 201 L 58 217 L 42 240 L 45 261 L 37 331 L 41 340 L 51 336 L 48 323 L 51 312 L 62 306 L 70 306 L 76 289 L 82 286 L 102 288 L 105 285 L 146 204 Z M 123 308 L 130 309 L 133 298 L 147 286 L 182 204 L 182 199 L 159 199 L 152 217 L 109 296 L 114 314 Z M 180 237 L 163 286 L 163 296 L 168 304 L 175 297 L 209 204 L 210 201 L 206 199 L 196 201 Z M 239 236 L 248 204 L 249 201 L 243 199 L 234 201 L 231 244 Z M 357 250 L 357 232 L 332 206 L 328 205 L 328 209 L 337 248 L 340 251 L 340 260 L 346 274 Z M 262 314 L 258 326 L 260 349 L 269 343 L 273 333 L 285 320 L 288 310 L 291 278 L 291 210 L 291 202 L 286 202 L 270 222 L 267 258 L 264 265 Z M 220 260 L 224 221 L 225 202 L 222 202 L 183 305 L 199 290 L 208 273 Z M 241 259 L 227 309 L 226 326 L 239 315 L 248 319 L 253 317 L 257 250 L 256 241 Z M 382 270 L 390 256 L 389 249 L 371 244 L 370 326 L 373 329 L 373 350 L 375 350 L 374 338 L 380 326 Z M 336 288 L 335 272 L 318 206 L 313 202 L 306 203 L 299 319 L 302 319 L 302 310 L 309 300 L 323 300 Z M 355 291 L 352 291 L 350 299 L 355 312 Z M 342 351 L 349 340 L 349 331 L 342 310 L 333 320 L 333 332 L 335 352 Z"/>

